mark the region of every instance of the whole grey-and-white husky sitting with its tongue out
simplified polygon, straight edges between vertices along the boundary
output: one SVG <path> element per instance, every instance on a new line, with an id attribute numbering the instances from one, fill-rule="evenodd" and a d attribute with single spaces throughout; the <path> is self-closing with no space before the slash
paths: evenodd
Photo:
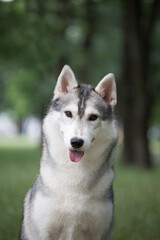
<path id="1" fill-rule="evenodd" d="M 108 240 L 113 222 L 116 85 L 78 84 L 69 66 L 43 122 L 39 174 L 25 197 L 20 240 Z"/>

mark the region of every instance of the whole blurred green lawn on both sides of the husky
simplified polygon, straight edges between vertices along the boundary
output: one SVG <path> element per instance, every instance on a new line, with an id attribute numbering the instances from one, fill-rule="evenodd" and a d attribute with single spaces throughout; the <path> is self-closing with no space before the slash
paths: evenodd
<path id="1" fill-rule="evenodd" d="M 23 199 L 38 172 L 40 150 L 21 141 L 0 144 L 0 240 L 18 239 Z M 112 240 L 160 240 L 160 166 L 150 171 L 116 164 Z"/>

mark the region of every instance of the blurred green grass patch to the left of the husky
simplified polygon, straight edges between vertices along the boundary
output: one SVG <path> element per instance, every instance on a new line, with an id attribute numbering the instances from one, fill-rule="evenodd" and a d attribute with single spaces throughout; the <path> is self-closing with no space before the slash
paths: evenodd
<path id="1" fill-rule="evenodd" d="M 23 199 L 39 167 L 35 147 L 0 147 L 0 240 L 18 239 Z"/>

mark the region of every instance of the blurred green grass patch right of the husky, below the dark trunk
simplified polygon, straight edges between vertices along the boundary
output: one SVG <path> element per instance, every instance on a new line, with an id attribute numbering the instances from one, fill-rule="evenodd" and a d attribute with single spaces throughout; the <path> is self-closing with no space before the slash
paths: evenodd
<path id="1" fill-rule="evenodd" d="M 113 240 L 160 240 L 160 166 L 116 173 Z"/>

